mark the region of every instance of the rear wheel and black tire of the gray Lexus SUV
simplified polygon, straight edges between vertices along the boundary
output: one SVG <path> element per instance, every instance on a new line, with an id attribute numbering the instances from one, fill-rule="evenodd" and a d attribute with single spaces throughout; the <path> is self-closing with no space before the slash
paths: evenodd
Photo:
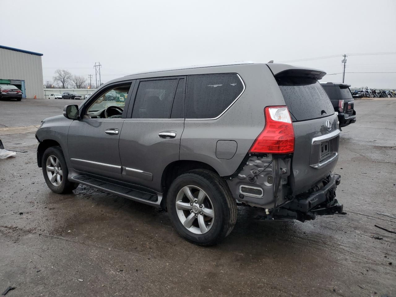
<path id="1" fill-rule="evenodd" d="M 185 188 L 189 189 L 193 200 L 188 199 Z M 202 192 L 204 198 L 199 202 L 198 195 Z M 176 206 L 177 201 L 182 208 Z M 169 218 L 177 232 L 200 246 L 221 242 L 236 223 L 236 201 L 227 184 L 217 174 L 206 169 L 194 169 L 177 177 L 169 187 L 166 204 Z M 188 219 L 190 217 L 191 220 Z M 190 227 L 185 227 L 182 219 Z"/>

